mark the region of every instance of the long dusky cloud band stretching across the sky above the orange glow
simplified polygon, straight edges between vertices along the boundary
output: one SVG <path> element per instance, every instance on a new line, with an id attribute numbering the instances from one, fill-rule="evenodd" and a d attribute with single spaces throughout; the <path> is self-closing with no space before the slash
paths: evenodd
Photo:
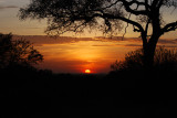
<path id="1" fill-rule="evenodd" d="M 39 28 L 29 28 L 29 29 L 39 29 Z M 70 37 L 70 36 L 60 36 L 60 37 L 50 37 L 45 35 L 14 35 L 13 39 L 25 39 L 30 41 L 31 43 L 42 46 L 43 44 L 74 44 L 80 41 L 98 41 L 103 43 L 96 43 L 92 46 L 133 46 L 133 47 L 142 47 L 142 40 L 137 37 L 128 37 L 125 40 L 117 39 L 94 39 L 94 37 Z M 108 43 L 106 43 L 108 42 Z M 158 42 L 159 45 L 166 45 L 166 46 L 177 46 L 177 40 L 164 40 L 160 39 Z"/>

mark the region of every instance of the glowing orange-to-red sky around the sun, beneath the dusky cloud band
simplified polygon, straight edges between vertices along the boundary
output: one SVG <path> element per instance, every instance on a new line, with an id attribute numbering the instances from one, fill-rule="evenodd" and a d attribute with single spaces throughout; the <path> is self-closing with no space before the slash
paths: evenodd
<path id="1" fill-rule="evenodd" d="M 51 68 L 60 73 L 108 73 L 110 66 L 117 58 L 123 60 L 124 54 L 133 50 L 132 46 L 122 45 L 125 42 L 80 41 L 64 44 L 43 44 L 38 50 L 44 54 L 42 68 Z"/>

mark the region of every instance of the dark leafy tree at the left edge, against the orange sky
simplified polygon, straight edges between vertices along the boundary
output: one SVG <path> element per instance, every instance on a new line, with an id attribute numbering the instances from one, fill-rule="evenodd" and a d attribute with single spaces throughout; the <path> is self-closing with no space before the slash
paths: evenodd
<path id="1" fill-rule="evenodd" d="M 29 41 L 12 40 L 12 34 L 0 34 L 0 68 L 38 64 L 42 60 L 43 55 Z"/>

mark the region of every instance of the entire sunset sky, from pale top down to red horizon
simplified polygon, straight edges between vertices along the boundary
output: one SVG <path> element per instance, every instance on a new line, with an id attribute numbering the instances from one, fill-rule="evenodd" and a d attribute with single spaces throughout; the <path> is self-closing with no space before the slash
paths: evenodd
<path id="1" fill-rule="evenodd" d="M 21 7 L 25 7 L 30 0 L 0 0 L 0 32 L 12 33 L 17 35 L 45 35 L 46 21 L 25 20 L 20 21 L 18 12 Z M 177 19 L 177 10 L 163 10 L 167 22 Z M 119 32 L 117 36 L 122 36 L 124 32 Z M 124 55 L 140 47 L 140 41 L 110 41 L 96 40 L 94 36 L 103 36 L 101 32 L 66 33 L 62 36 L 76 36 L 80 39 L 59 39 L 59 40 L 42 40 L 42 36 L 28 37 L 34 41 L 35 47 L 44 55 L 44 63 L 39 67 L 50 68 L 56 73 L 84 73 L 85 69 L 91 69 L 92 73 L 107 73 L 110 65 L 116 60 L 123 60 Z M 132 32 L 128 29 L 126 37 L 137 37 L 139 34 Z M 90 39 L 82 39 L 90 37 Z M 163 39 L 177 39 L 177 31 L 170 32 Z M 165 40 L 166 41 L 166 40 Z M 52 43 L 51 43 L 52 42 Z M 164 45 L 173 45 L 174 42 L 163 43 Z M 175 42 L 176 44 L 176 42 Z"/>

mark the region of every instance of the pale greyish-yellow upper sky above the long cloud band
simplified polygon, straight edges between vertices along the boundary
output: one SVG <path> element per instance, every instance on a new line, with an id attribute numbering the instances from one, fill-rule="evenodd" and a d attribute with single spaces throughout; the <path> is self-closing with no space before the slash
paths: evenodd
<path id="1" fill-rule="evenodd" d="M 20 21 L 18 15 L 19 9 L 25 7 L 30 3 L 30 0 L 0 0 L 0 32 L 19 35 L 45 35 L 44 30 L 46 28 L 46 21 L 41 20 L 40 22 L 37 20 L 27 20 Z M 164 15 L 166 15 L 165 21 L 170 22 L 177 19 L 177 10 L 173 9 L 164 9 Z M 176 32 L 168 33 L 164 35 L 164 37 L 174 39 L 176 37 Z M 97 36 L 102 35 L 101 32 L 92 32 L 92 33 L 83 33 L 81 35 L 73 34 L 64 34 L 70 36 Z M 121 32 L 118 35 L 123 35 Z M 131 28 L 126 34 L 128 37 L 138 36 L 137 33 L 132 32 Z"/>

